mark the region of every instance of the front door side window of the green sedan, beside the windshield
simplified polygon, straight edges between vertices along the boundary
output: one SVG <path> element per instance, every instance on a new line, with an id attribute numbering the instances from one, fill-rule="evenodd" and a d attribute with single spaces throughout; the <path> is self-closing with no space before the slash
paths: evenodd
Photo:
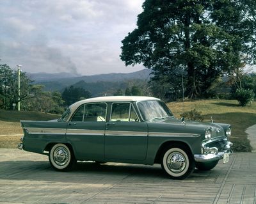
<path id="1" fill-rule="evenodd" d="M 113 103 L 111 122 L 138 122 L 138 116 L 131 103 Z"/>

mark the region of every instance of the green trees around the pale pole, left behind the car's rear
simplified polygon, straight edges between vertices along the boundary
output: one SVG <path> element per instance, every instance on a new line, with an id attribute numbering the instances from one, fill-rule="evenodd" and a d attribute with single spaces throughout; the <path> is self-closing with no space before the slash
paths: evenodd
<path id="1" fill-rule="evenodd" d="M 22 111 L 63 113 L 65 107 L 84 98 L 91 97 L 89 91 L 70 86 L 63 93 L 44 91 L 41 84 L 33 84 L 25 72 L 20 72 L 20 99 L 18 72 L 8 65 L 0 65 L 0 109 L 17 109 L 20 102 Z"/>

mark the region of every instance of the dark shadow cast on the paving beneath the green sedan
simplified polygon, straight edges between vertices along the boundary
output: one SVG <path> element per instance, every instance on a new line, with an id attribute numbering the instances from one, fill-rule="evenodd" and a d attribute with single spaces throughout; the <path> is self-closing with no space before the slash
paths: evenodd
<path id="1" fill-rule="evenodd" d="M 19 180 L 38 180 L 45 182 L 70 182 L 77 184 L 94 184 L 95 182 L 108 182 L 118 180 L 136 180 L 141 178 L 146 182 L 166 181 L 180 182 L 172 180 L 161 169 L 161 165 L 154 166 L 140 164 L 121 164 L 121 163 L 106 163 L 97 164 L 95 162 L 77 162 L 76 167 L 72 171 L 60 172 L 51 168 L 47 161 L 4 161 L 0 162 L 0 178 L 1 179 L 19 179 Z M 191 180 L 205 180 L 211 178 L 211 171 L 199 171 L 195 169 L 186 180 L 182 182 L 191 182 Z M 212 175 L 212 177 L 215 177 Z M 212 178 L 214 179 L 214 178 Z"/>

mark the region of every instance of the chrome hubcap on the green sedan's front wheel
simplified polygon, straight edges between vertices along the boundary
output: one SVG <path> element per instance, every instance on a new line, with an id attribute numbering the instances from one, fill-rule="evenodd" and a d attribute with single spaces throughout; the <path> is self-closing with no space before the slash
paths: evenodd
<path id="1" fill-rule="evenodd" d="M 167 158 L 168 168 L 174 173 L 180 173 L 186 168 L 186 159 L 180 152 L 173 152 Z"/>

